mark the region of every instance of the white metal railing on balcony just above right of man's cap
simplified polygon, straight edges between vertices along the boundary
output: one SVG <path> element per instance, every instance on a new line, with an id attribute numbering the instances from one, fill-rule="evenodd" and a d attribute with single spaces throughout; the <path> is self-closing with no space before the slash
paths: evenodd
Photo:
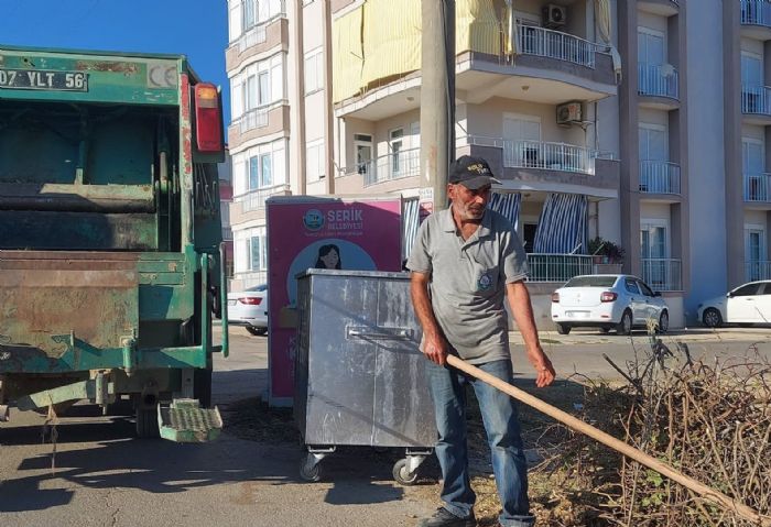
<path id="1" fill-rule="evenodd" d="M 501 141 L 503 166 L 595 174 L 598 153 L 585 146 L 543 141 Z"/>

